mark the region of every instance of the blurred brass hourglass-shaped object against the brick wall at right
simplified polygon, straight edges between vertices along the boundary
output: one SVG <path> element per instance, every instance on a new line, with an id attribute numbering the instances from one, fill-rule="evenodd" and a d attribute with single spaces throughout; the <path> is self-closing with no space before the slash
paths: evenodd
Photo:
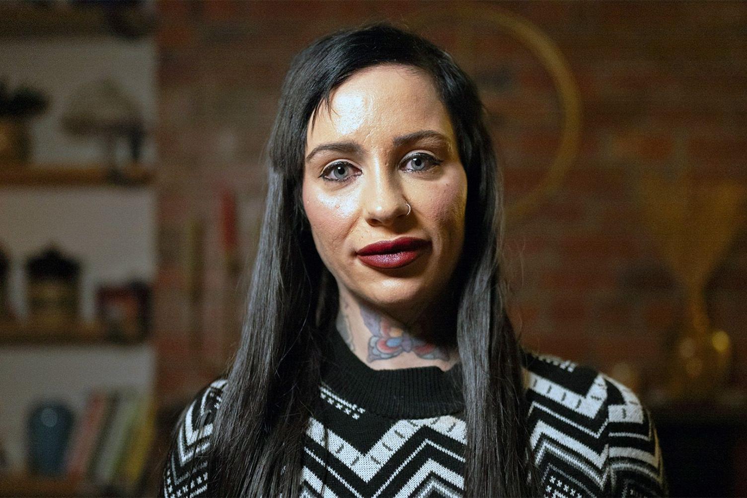
<path id="1" fill-rule="evenodd" d="M 642 173 L 642 214 L 666 265 L 684 289 L 685 314 L 669 359 L 672 399 L 705 399 L 724 387 L 731 339 L 710 327 L 704 289 L 745 219 L 747 189 L 723 182 L 696 185 L 688 173 L 671 179 Z"/>

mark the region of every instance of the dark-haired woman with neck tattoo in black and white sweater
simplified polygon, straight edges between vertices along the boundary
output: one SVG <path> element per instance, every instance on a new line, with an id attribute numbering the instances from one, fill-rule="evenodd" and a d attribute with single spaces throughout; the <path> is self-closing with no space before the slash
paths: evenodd
<path id="1" fill-rule="evenodd" d="M 241 346 L 187 407 L 164 494 L 666 493 L 648 413 L 521 350 L 474 84 L 390 25 L 294 59 Z"/>

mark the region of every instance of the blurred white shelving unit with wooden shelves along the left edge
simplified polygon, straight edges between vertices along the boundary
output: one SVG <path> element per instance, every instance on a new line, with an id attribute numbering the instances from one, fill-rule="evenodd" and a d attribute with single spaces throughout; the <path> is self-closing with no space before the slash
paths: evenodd
<path id="1" fill-rule="evenodd" d="M 31 468 L 28 422 L 38 407 L 63 405 L 81 424 L 95 396 L 104 396 L 108 409 L 123 414 L 135 412 L 129 408 L 135 400 L 155 396 L 155 342 L 114 339 L 111 326 L 97 321 L 96 301 L 99 286 L 150 283 L 155 277 L 153 184 L 154 165 L 160 165 L 151 126 L 158 109 L 158 58 L 150 36 L 155 14 L 152 1 L 0 1 L 3 83 L 9 91 L 28 85 L 49 103 L 26 123 L 26 155 L 0 159 L 0 246 L 10 260 L 3 282 L 7 300 L 0 301 L 17 320 L 5 322 L 8 314 L 0 313 L 0 497 L 155 495 L 154 484 L 148 488 L 152 491 L 137 491 L 130 481 L 122 484 L 120 476 L 102 479 L 98 467 L 85 467 L 83 479 L 26 470 Z M 137 141 L 134 127 L 129 135 L 105 137 L 107 147 L 102 147 L 100 129 L 76 133 L 63 126 L 69 108 L 85 108 L 76 99 L 90 99 L 87 89 L 101 88 L 105 81 L 131 104 L 132 111 L 124 114 L 137 115 L 142 125 Z M 77 318 L 55 328 L 23 318 L 32 315 L 24 262 L 50 245 L 82 265 Z M 128 402 L 123 402 L 125 394 Z M 143 414 L 133 415 L 132 427 L 147 426 L 135 422 L 138 416 L 143 419 Z M 173 425 L 173 416 L 168 422 Z M 111 434 L 125 425 L 111 432 L 102 426 L 92 434 L 111 443 L 111 455 L 134 455 L 134 449 L 123 449 L 129 445 L 112 443 L 117 438 Z M 147 442 L 137 449 L 145 455 L 145 473 L 162 459 L 160 453 L 149 456 L 152 449 Z M 105 467 L 107 473 L 120 472 L 119 464 Z"/>

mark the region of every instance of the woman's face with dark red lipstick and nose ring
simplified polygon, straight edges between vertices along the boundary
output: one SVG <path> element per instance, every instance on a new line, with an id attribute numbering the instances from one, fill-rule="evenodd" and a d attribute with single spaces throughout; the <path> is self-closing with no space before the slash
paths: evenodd
<path id="1" fill-rule="evenodd" d="M 430 304 L 462 252 L 466 200 L 449 116 L 421 71 L 361 70 L 309 121 L 303 206 L 341 295 L 398 314 Z"/>

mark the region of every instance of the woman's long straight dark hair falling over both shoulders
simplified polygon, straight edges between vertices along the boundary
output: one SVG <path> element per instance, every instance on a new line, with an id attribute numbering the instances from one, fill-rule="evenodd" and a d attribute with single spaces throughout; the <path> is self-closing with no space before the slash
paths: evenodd
<path id="1" fill-rule="evenodd" d="M 540 494 L 525 422 L 521 348 L 506 315 L 502 180 L 483 106 L 450 55 L 388 24 L 317 40 L 294 58 L 285 77 L 267 148 L 267 203 L 241 346 L 211 435 L 214 494 L 300 494 L 320 344 L 337 312 L 334 279 L 314 248 L 300 202 L 307 123 L 353 73 L 390 63 L 432 77 L 468 179 L 465 244 L 454 290 L 468 428 L 465 494 Z"/>

